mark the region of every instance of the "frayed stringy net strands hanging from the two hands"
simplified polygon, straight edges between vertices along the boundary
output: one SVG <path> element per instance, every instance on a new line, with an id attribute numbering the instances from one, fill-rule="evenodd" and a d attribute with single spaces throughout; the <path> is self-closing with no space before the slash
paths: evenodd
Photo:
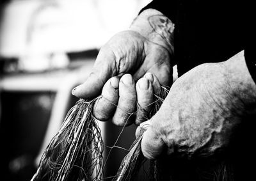
<path id="1" fill-rule="evenodd" d="M 161 95 L 156 95 L 156 102 L 153 103 L 155 106 L 150 111 L 149 118 L 159 109 L 167 93 L 168 90 L 163 87 Z M 93 116 L 93 105 L 96 100 L 97 98 L 90 101 L 80 99 L 70 109 L 60 130 L 45 149 L 38 169 L 31 180 L 102 180 L 104 143 L 97 121 Z M 130 156 L 125 157 L 127 161 L 134 162 L 134 164 L 142 163 L 138 162 L 137 157 L 144 159 L 139 153 L 141 138 L 132 146 L 136 152 L 131 150 L 128 154 Z M 126 164 L 124 166 L 122 164 L 121 167 L 122 173 L 124 169 L 130 172 L 133 170 L 133 167 L 128 169 Z"/>

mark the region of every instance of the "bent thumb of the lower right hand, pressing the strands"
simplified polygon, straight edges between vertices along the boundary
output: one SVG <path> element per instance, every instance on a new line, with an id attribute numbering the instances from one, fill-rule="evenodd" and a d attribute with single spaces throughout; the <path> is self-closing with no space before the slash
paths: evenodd
<path id="1" fill-rule="evenodd" d="M 163 152 L 166 147 L 163 139 L 161 138 L 161 132 L 157 129 L 156 116 L 150 120 L 151 124 L 143 134 L 141 141 L 141 151 L 147 159 L 156 159 Z"/>

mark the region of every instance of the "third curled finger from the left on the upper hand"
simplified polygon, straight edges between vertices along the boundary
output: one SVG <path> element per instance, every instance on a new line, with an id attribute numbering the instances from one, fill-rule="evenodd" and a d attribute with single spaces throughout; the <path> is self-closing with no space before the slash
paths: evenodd
<path id="1" fill-rule="evenodd" d="M 141 122 L 148 120 L 149 113 L 152 109 L 152 102 L 154 101 L 153 88 L 146 78 L 141 78 L 136 84 L 136 93 L 138 101 L 138 109 L 136 114 L 135 124 L 139 125 Z"/>

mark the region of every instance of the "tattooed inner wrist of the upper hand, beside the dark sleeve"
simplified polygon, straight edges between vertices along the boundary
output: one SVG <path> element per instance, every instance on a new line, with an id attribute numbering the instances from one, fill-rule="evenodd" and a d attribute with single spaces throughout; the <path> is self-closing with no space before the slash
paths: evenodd
<path id="1" fill-rule="evenodd" d="M 149 42 L 156 43 L 173 54 L 174 24 L 163 13 L 154 9 L 144 10 L 132 22 L 129 29 L 140 33 Z"/>

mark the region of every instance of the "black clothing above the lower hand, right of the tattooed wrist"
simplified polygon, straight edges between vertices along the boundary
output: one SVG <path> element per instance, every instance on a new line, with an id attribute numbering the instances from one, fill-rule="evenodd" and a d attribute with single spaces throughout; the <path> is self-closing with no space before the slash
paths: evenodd
<path id="1" fill-rule="evenodd" d="M 180 76 L 196 65 L 225 61 L 242 50 L 252 54 L 248 51 L 252 50 L 249 40 L 254 42 L 253 7 L 246 0 L 158 0 L 143 10 L 159 10 L 175 24 L 175 63 Z M 256 59 L 252 61 L 248 68 L 256 81 Z"/>

